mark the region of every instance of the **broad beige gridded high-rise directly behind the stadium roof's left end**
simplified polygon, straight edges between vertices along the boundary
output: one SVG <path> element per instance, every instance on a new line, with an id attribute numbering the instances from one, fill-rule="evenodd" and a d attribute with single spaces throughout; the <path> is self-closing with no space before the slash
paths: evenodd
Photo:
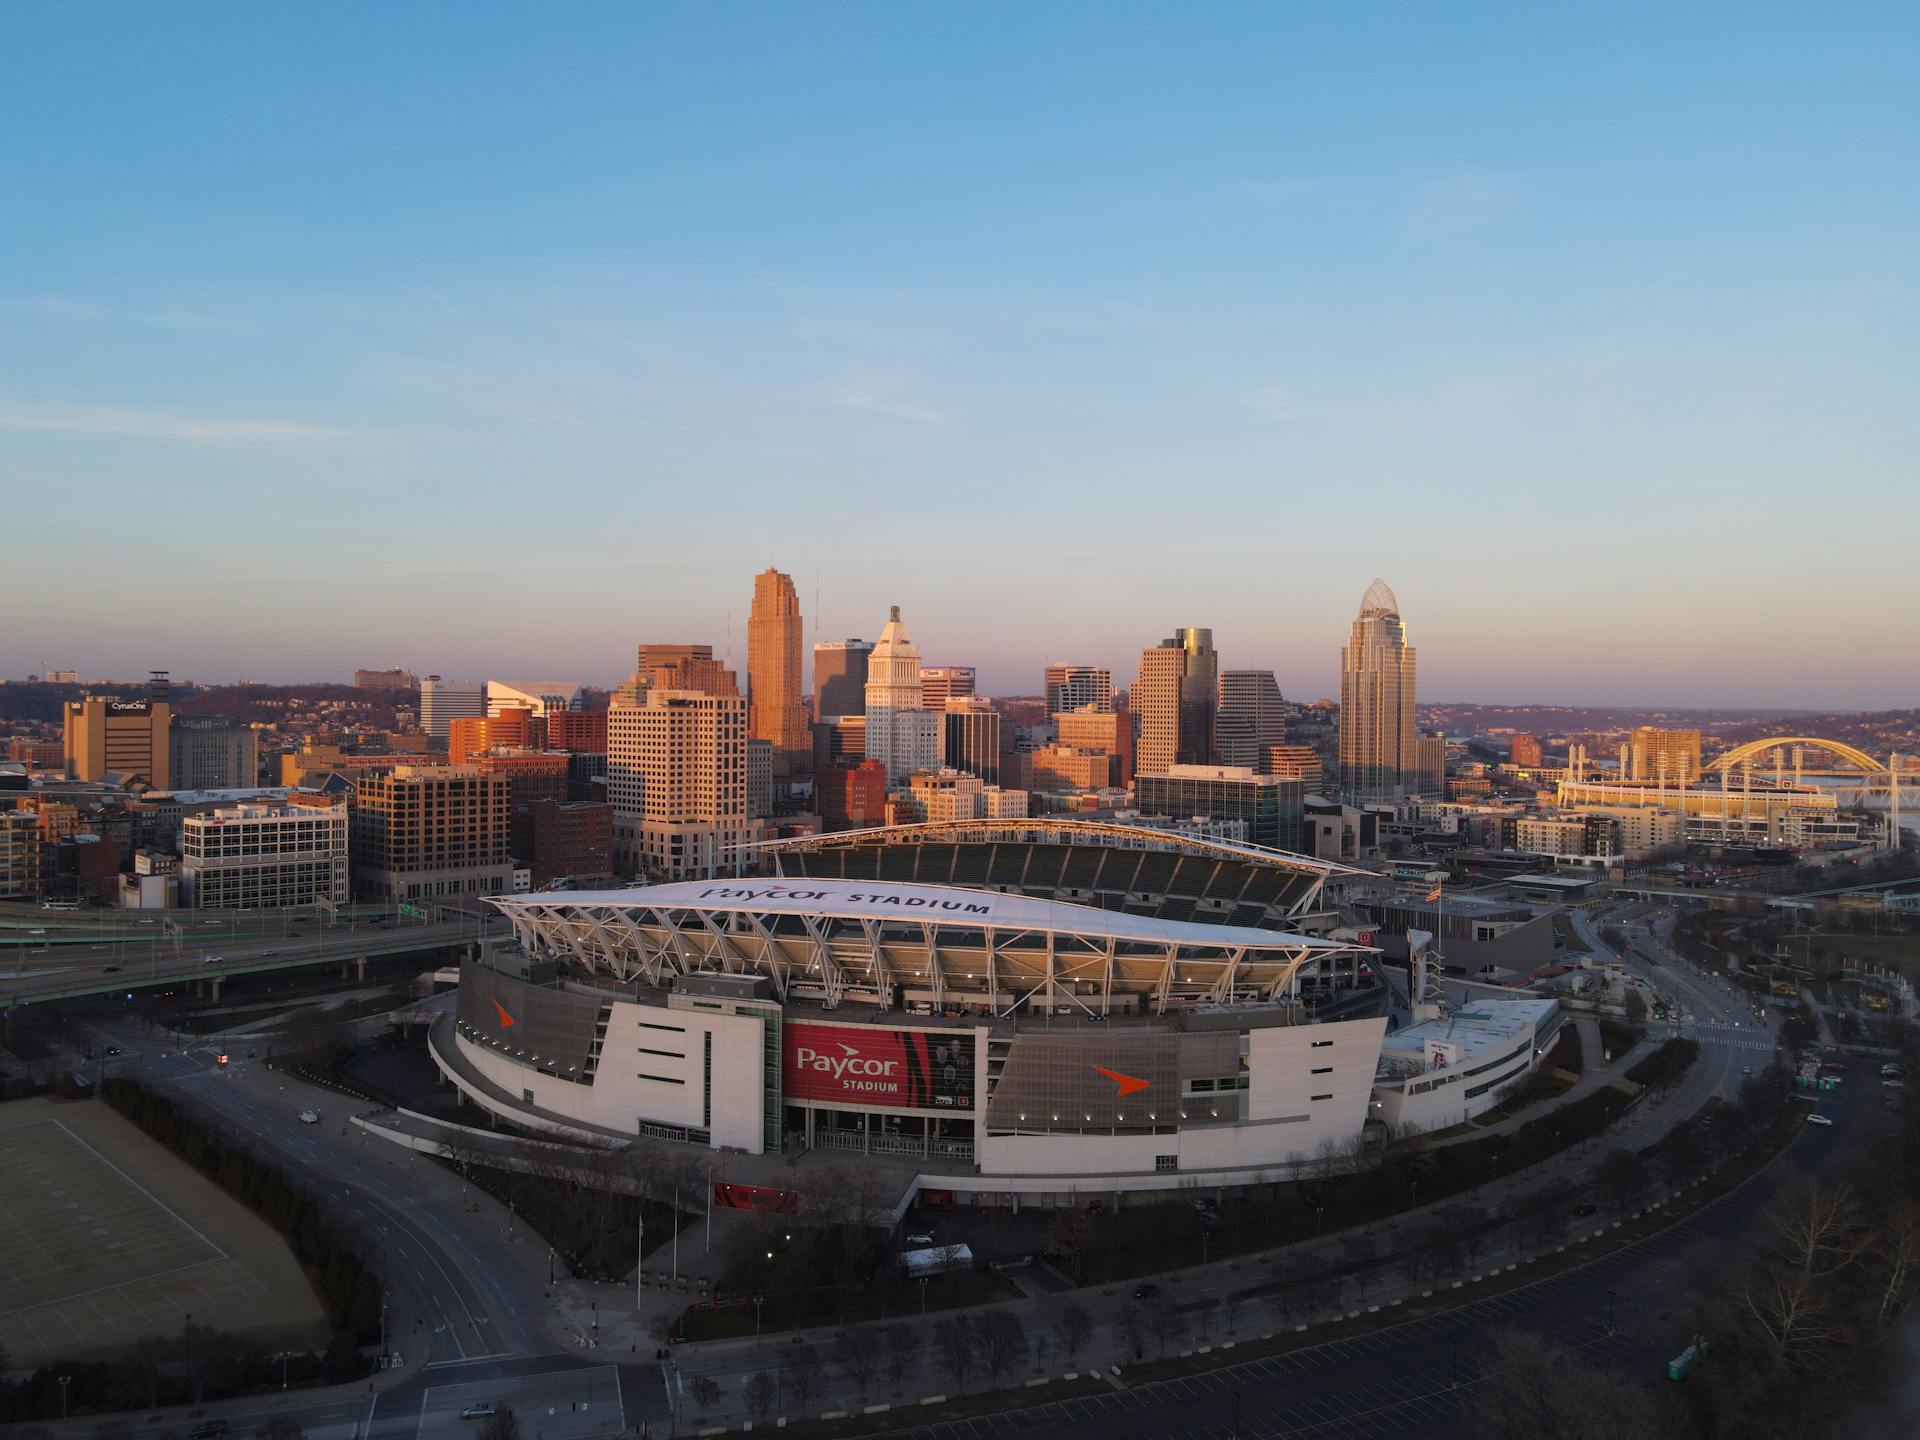
<path id="1" fill-rule="evenodd" d="M 618 695 L 607 712 L 607 799 L 624 872 L 735 874 L 756 831 L 747 814 L 745 697 L 659 685 Z"/>

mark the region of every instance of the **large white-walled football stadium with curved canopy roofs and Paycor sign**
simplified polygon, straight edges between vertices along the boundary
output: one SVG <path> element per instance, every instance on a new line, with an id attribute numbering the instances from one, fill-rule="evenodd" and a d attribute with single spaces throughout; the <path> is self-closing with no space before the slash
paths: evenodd
<path id="1" fill-rule="evenodd" d="M 442 1073 L 520 1129 L 895 1158 L 952 1198 L 1273 1179 L 1373 1104 L 1388 991 L 1304 856 L 1073 820 L 776 841 L 492 900 Z"/>

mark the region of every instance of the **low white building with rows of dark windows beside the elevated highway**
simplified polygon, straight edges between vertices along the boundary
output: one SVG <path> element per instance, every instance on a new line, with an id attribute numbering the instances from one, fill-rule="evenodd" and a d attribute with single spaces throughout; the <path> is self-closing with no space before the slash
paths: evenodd
<path id="1" fill-rule="evenodd" d="M 180 904 L 276 910 L 317 900 L 348 900 L 346 801 L 290 795 L 180 820 Z"/>

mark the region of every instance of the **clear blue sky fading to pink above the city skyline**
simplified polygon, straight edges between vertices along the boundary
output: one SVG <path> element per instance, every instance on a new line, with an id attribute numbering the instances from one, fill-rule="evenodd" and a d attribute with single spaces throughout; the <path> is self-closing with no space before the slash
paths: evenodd
<path id="1" fill-rule="evenodd" d="M 0 12 L 0 674 L 1920 703 L 1920 8 Z"/>

